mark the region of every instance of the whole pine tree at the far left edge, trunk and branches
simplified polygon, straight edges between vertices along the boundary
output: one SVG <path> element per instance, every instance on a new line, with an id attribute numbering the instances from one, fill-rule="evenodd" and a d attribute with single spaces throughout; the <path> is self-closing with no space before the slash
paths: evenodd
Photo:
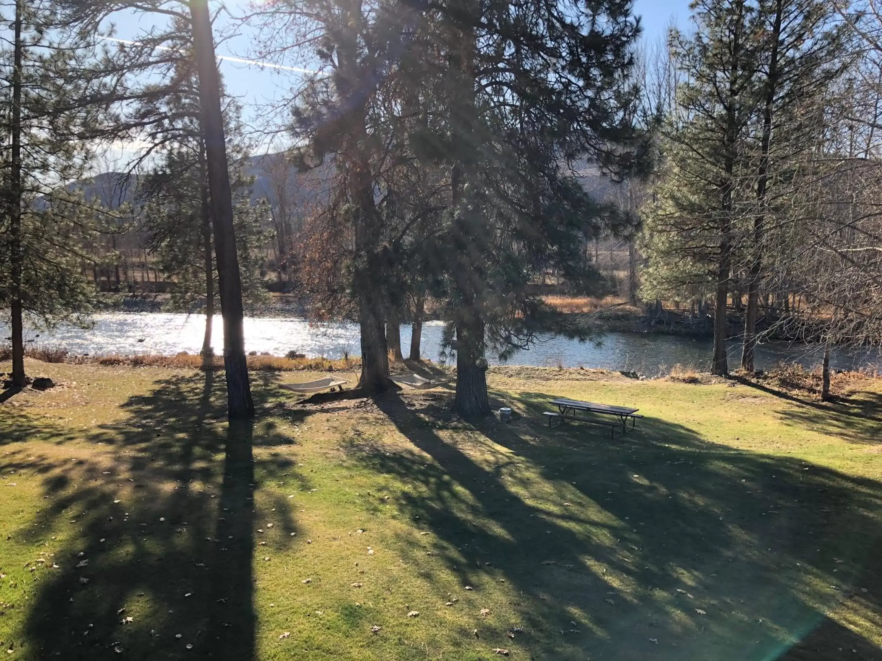
<path id="1" fill-rule="evenodd" d="M 84 102 L 95 92 L 89 77 L 78 75 L 88 66 L 84 35 L 65 29 L 52 5 L 40 0 L 16 0 L 5 9 L 11 39 L 4 44 L 11 48 L 0 52 L 0 309 L 11 321 L 11 382 L 22 387 L 25 317 L 45 325 L 83 323 L 93 299 L 78 249 L 92 238 L 94 213 L 64 183 L 82 174 L 89 127 L 101 115 Z"/>

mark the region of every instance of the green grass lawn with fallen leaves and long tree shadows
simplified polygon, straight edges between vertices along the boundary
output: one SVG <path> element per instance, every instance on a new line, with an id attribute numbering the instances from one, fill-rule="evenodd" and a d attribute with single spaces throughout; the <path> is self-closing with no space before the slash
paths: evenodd
<path id="1" fill-rule="evenodd" d="M 473 425 L 259 373 L 228 426 L 222 372 L 28 367 L 61 385 L 0 404 L 11 659 L 882 661 L 878 382 L 496 370 L 515 420 Z M 647 417 L 549 431 L 549 396 Z"/>

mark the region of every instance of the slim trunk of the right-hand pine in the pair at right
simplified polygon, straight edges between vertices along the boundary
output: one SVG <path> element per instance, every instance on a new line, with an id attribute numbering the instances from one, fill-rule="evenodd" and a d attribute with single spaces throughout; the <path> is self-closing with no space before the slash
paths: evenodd
<path id="1" fill-rule="evenodd" d="M 778 42 L 781 40 L 781 15 L 783 0 L 775 2 L 774 25 L 772 27 L 772 52 L 769 57 L 769 71 L 766 79 L 766 102 L 763 109 L 763 135 L 760 141 L 759 177 L 757 179 L 757 203 L 759 213 L 753 219 L 753 259 L 747 280 L 747 315 L 744 317 L 744 348 L 741 353 L 741 367 L 753 372 L 753 357 L 757 346 L 757 317 L 759 312 L 759 279 L 762 275 L 762 243 L 765 229 L 765 213 L 768 185 L 769 150 L 772 145 L 772 110 L 778 88 Z"/>

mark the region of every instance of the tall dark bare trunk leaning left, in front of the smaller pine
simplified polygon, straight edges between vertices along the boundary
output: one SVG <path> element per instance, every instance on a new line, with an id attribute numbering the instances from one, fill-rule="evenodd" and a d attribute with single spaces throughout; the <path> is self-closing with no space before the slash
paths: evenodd
<path id="1" fill-rule="evenodd" d="M 235 249 L 233 198 L 227 169 L 227 146 L 221 113 L 221 81 L 214 57 L 214 38 L 207 0 L 190 3 L 193 49 L 199 77 L 199 105 L 206 141 L 208 186 L 223 316 L 223 358 L 230 420 L 252 418 L 254 403 L 248 381 L 243 331 L 242 282 Z"/>

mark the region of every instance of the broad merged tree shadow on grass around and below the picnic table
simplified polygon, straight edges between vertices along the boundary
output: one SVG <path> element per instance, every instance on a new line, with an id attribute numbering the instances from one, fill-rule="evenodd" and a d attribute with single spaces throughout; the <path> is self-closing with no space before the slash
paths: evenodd
<path id="1" fill-rule="evenodd" d="M 882 485 L 664 420 L 615 441 L 593 427 L 549 432 L 536 421 L 547 395 L 519 397 L 523 420 L 476 426 L 379 397 L 432 461 L 362 459 L 419 486 L 401 507 L 430 526 L 463 583 L 503 578 L 518 591 L 516 640 L 534 657 L 778 658 L 812 632 L 835 638 L 824 613 L 855 598 L 865 620 L 882 622 L 882 584 L 864 572 L 878 561 Z M 833 649 L 882 657 L 840 629 L 848 635 Z"/>

